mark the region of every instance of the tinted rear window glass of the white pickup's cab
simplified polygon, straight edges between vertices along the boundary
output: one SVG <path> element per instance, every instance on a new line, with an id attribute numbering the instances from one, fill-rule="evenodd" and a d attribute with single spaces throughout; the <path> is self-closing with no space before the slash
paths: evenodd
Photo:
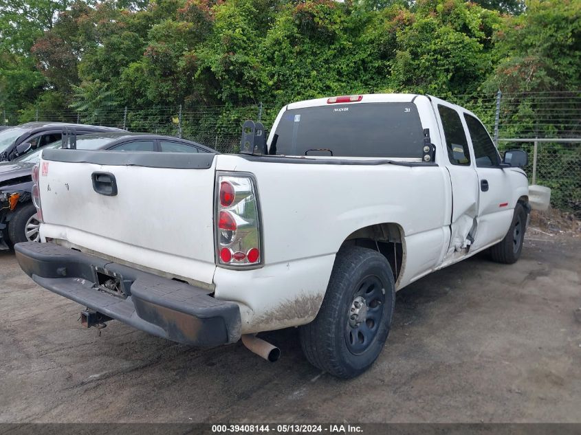
<path id="1" fill-rule="evenodd" d="M 278 155 L 421 158 L 424 135 L 413 103 L 327 104 L 283 113 Z M 323 150 L 320 150 L 320 149 Z"/>

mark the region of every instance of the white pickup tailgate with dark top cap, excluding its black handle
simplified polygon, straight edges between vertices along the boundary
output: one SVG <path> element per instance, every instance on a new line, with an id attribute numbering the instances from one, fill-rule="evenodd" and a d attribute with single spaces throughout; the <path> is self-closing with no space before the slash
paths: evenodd
<path id="1" fill-rule="evenodd" d="M 50 150 L 39 177 L 41 235 L 211 283 L 214 160 L 211 154 Z M 96 172 L 115 178 L 115 195 L 96 191 Z"/>

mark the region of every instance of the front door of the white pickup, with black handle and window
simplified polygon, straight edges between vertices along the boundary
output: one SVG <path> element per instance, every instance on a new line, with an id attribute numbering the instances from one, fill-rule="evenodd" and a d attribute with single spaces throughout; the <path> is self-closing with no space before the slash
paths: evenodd
<path id="1" fill-rule="evenodd" d="M 476 250 L 505 236 L 512 222 L 512 191 L 509 174 L 501 168 L 501 157 L 485 127 L 470 113 L 464 112 L 463 118 L 479 180 L 478 234 L 471 248 Z"/>

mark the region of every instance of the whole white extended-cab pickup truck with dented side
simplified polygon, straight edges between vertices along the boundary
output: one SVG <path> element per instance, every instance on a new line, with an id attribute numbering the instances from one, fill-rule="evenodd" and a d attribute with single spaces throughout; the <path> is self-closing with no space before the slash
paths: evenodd
<path id="1" fill-rule="evenodd" d="M 529 213 L 523 151 L 501 158 L 473 113 L 431 96 L 288 104 L 260 155 L 46 150 L 41 240 L 16 245 L 42 287 L 196 346 L 300 328 L 338 377 L 369 368 L 395 291 L 488 249 L 514 263 Z"/>

